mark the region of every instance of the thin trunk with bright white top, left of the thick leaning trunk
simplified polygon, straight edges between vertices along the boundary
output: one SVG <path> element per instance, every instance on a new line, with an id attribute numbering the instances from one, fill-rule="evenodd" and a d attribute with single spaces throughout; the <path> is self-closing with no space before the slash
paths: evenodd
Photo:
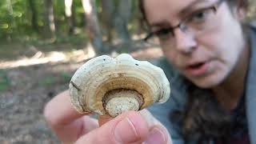
<path id="1" fill-rule="evenodd" d="M 69 34 L 74 34 L 75 18 L 74 18 L 73 0 L 65 0 L 65 14 L 69 26 Z"/>

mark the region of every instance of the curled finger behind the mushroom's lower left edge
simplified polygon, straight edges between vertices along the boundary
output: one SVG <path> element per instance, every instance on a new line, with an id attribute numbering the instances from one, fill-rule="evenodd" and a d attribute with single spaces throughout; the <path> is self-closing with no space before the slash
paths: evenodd
<path id="1" fill-rule="evenodd" d="M 75 142 L 80 135 L 98 127 L 96 120 L 84 115 L 74 110 L 68 90 L 48 102 L 44 110 L 46 122 L 64 143 Z"/>

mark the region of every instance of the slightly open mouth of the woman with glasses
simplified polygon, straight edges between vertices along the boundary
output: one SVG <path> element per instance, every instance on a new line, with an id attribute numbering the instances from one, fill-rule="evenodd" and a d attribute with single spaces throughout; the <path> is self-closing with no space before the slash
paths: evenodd
<path id="1" fill-rule="evenodd" d="M 186 74 L 198 77 L 206 73 L 209 62 L 197 62 L 186 66 Z"/>

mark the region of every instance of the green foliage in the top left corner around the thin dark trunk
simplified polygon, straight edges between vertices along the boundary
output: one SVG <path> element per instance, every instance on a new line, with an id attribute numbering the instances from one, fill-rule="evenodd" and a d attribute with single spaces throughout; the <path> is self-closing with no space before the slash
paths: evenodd
<path id="1" fill-rule="evenodd" d="M 34 1 L 36 10 L 42 7 L 42 1 Z M 31 29 L 31 11 L 28 1 L 2 0 L 0 3 L 0 38 L 13 38 L 14 35 L 33 34 Z M 38 17 L 41 16 L 38 14 Z M 38 19 L 38 25 L 42 19 Z"/>

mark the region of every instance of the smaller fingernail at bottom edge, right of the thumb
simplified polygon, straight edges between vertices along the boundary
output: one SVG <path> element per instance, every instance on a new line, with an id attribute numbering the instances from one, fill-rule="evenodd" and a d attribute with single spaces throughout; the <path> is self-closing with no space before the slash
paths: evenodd
<path id="1" fill-rule="evenodd" d="M 142 144 L 163 144 L 165 141 L 165 134 L 162 132 L 162 130 L 160 130 L 158 127 L 154 127 L 154 129 L 150 130 L 150 134 L 147 136 L 146 141 L 142 142 Z"/>

